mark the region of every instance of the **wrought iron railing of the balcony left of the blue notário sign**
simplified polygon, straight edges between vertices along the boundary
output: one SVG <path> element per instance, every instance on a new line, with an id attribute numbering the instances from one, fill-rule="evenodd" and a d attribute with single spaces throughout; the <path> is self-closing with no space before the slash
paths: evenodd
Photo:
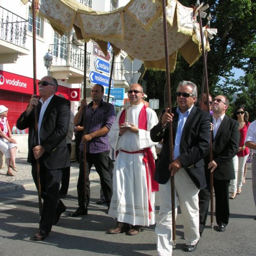
<path id="1" fill-rule="evenodd" d="M 74 44 L 50 44 L 52 66 L 71 66 L 84 70 L 84 49 Z M 90 72 L 90 52 L 86 52 L 86 72 Z"/>

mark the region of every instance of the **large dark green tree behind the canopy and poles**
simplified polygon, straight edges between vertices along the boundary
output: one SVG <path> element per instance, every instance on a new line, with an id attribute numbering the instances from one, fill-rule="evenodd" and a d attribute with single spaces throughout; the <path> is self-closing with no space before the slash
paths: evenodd
<path id="1" fill-rule="evenodd" d="M 184 6 L 192 6 L 195 0 L 180 0 Z M 206 0 L 210 8 L 206 12 L 212 15 L 211 27 L 218 29 L 218 34 L 210 41 L 211 50 L 207 53 L 207 71 L 209 92 L 212 95 L 224 94 L 232 101 L 232 96 L 239 88 L 232 80 L 232 69 L 241 68 L 245 73 L 255 73 L 256 70 L 256 2 L 255 0 Z M 207 20 L 203 19 L 203 25 Z M 158 74 L 159 73 L 159 74 Z M 159 98 L 157 91 L 149 89 L 151 84 L 157 84 L 154 79 L 160 79 L 161 93 L 165 73 L 148 70 L 144 80 L 148 83 L 148 99 Z M 199 93 L 203 79 L 203 59 L 200 58 L 192 67 L 178 55 L 174 73 L 170 74 L 173 87 L 181 80 L 189 80 L 198 85 Z M 148 80 L 150 79 L 150 80 Z M 164 82 L 165 83 L 165 82 Z M 200 94 L 199 94 L 200 95 Z M 232 104 L 231 108 L 232 110 Z"/>

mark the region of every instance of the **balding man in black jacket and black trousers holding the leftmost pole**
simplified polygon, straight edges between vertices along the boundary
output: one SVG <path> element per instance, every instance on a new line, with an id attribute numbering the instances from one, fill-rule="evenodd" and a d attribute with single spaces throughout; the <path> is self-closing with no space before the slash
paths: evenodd
<path id="1" fill-rule="evenodd" d="M 40 164 L 41 197 L 44 199 L 39 230 L 35 240 L 43 240 L 56 224 L 65 205 L 58 199 L 62 169 L 70 166 L 66 135 L 70 122 L 70 102 L 55 96 L 58 82 L 45 76 L 38 82 L 40 99 L 32 95 L 29 105 L 19 119 L 17 128 L 29 128 L 28 162 L 32 165 L 32 176 L 37 186 L 36 160 Z M 39 145 L 35 144 L 35 106 L 38 106 Z"/>

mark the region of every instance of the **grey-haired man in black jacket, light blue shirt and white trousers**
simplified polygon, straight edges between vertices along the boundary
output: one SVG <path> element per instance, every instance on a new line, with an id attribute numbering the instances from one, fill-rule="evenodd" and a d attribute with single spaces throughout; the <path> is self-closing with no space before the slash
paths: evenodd
<path id="1" fill-rule="evenodd" d="M 177 87 L 177 105 L 172 115 L 166 109 L 161 121 L 151 130 L 151 140 L 163 139 L 155 180 L 160 183 L 160 211 L 157 217 L 157 255 L 172 255 L 172 201 L 170 176 L 175 175 L 175 209 L 179 200 L 184 220 L 185 251 L 193 251 L 199 236 L 198 192 L 206 186 L 204 160 L 209 151 L 210 119 L 206 111 L 194 106 L 197 87 L 182 81 Z M 170 164 L 169 127 L 172 121 L 174 160 Z"/>

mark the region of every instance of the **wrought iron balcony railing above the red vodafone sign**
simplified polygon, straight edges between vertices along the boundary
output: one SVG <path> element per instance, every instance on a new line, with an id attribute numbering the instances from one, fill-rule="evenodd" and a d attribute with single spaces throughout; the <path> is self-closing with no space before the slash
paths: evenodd
<path id="1" fill-rule="evenodd" d="M 28 20 L 0 6 L 0 38 L 25 47 Z"/>

